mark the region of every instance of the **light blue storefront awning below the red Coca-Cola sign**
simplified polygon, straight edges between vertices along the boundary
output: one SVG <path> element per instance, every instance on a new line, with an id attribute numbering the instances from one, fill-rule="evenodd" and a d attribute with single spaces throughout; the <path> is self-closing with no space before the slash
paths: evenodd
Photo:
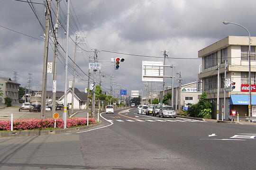
<path id="1" fill-rule="evenodd" d="M 230 104 L 249 105 L 249 95 L 230 95 Z M 252 105 L 256 105 L 256 95 L 252 95 Z"/>

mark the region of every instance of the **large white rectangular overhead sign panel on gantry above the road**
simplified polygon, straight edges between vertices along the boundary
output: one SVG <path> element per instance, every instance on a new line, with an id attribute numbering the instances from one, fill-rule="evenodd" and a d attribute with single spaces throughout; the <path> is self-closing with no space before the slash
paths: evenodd
<path id="1" fill-rule="evenodd" d="M 163 61 L 142 61 L 142 81 L 163 82 Z"/>

